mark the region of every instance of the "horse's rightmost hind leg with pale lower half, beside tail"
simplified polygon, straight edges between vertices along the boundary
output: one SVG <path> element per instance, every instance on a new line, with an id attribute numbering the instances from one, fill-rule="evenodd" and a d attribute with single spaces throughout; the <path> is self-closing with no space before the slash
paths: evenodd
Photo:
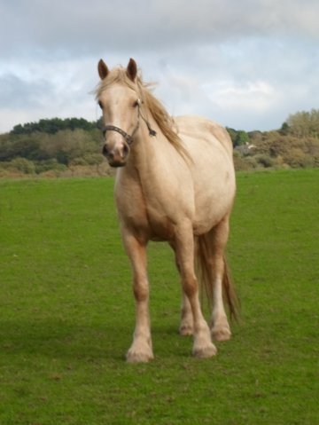
<path id="1" fill-rule="evenodd" d="M 226 216 L 221 223 L 206 235 L 210 244 L 213 278 L 213 309 L 211 316 L 211 333 L 216 341 L 227 341 L 230 339 L 230 325 L 226 316 L 222 301 L 222 281 L 224 279 L 225 259 L 224 250 L 229 237 L 230 226 L 229 216 Z"/>

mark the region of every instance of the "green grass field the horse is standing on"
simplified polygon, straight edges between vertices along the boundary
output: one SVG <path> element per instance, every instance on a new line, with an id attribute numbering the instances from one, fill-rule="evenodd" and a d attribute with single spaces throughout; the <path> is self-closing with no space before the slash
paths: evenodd
<path id="1" fill-rule="evenodd" d="M 152 244 L 156 358 L 128 365 L 113 179 L 0 181 L 1 425 L 319 423 L 319 169 L 238 174 L 237 186 L 233 339 L 191 357 L 172 253 Z"/>

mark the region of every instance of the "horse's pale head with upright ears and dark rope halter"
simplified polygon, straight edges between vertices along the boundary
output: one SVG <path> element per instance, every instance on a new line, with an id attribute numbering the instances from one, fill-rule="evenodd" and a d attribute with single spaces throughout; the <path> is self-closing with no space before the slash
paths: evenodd
<path id="1" fill-rule="evenodd" d="M 109 71 L 101 59 L 97 69 L 101 78 L 97 101 L 103 113 L 103 154 L 112 167 L 122 167 L 139 126 L 136 61 L 129 59 L 126 69 Z"/>

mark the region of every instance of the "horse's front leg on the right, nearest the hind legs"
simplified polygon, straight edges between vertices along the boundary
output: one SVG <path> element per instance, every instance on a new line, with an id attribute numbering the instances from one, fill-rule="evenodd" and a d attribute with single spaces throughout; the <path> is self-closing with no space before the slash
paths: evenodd
<path id="1" fill-rule="evenodd" d="M 193 354 L 198 358 L 209 358 L 216 354 L 211 341 L 209 327 L 203 317 L 198 299 L 198 281 L 194 271 L 194 237 L 190 224 L 183 224 L 175 233 L 175 253 L 179 264 L 184 296 L 191 305 L 193 318 Z"/>

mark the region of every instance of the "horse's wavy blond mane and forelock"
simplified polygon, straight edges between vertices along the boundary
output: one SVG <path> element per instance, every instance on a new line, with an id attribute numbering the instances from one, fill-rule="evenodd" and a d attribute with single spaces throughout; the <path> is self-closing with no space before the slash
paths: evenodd
<path id="1" fill-rule="evenodd" d="M 106 78 L 98 84 L 96 98 L 99 98 L 101 93 L 113 83 L 125 84 L 134 91 L 136 91 L 137 88 L 137 94 L 143 102 L 142 107 L 148 110 L 150 114 L 152 114 L 153 119 L 159 126 L 159 130 L 161 130 L 169 143 L 174 146 L 179 153 L 182 153 L 184 156 L 188 156 L 185 148 L 183 147 L 182 140 L 177 134 L 177 127 L 173 117 L 167 113 L 165 107 L 159 102 L 159 99 L 157 99 L 150 90 L 151 87 L 154 86 L 153 83 L 144 83 L 140 71 L 136 76 L 136 83 L 133 83 L 129 79 L 126 69 L 123 67 L 117 67 L 112 69 Z"/>

